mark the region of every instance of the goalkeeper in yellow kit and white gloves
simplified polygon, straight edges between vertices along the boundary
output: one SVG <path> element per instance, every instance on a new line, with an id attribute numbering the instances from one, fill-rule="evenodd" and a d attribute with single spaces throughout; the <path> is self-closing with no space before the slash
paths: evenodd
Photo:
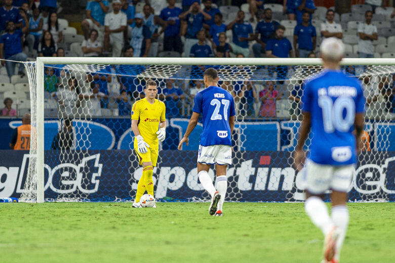
<path id="1" fill-rule="evenodd" d="M 159 151 L 158 141 L 163 142 L 166 138 L 166 107 L 165 103 L 155 99 L 156 82 L 148 80 L 144 93 L 145 98 L 136 101 L 132 108 L 134 150 L 139 164 L 143 166 L 143 174 L 137 185 L 136 199 L 133 202 L 133 207 L 137 208 L 141 207 L 140 198 L 145 190 L 153 196 L 152 172 Z"/>

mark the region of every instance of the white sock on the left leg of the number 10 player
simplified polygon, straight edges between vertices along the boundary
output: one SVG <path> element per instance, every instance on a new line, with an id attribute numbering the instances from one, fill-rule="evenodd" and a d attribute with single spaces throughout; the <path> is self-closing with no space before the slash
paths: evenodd
<path id="1" fill-rule="evenodd" d="M 304 203 L 304 209 L 312 223 L 321 229 L 324 236 L 332 230 L 334 224 L 331 217 L 329 217 L 328 208 L 321 198 L 317 196 L 307 198 Z"/>

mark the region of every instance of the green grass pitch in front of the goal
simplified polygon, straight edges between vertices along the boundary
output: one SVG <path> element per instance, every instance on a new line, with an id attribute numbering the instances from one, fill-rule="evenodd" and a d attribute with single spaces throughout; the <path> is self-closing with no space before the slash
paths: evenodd
<path id="1" fill-rule="evenodd" d="M 349 204 L 341 262 L 395 262 L 394 203 Z M 0 262 L 320 262 L 303 203 L 2 203 Z"/>

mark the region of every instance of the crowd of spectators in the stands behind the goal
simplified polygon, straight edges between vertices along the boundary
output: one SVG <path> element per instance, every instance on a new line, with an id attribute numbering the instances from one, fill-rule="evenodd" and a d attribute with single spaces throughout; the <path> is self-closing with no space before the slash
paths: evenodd
<path id="1" fill-rule="evenodd" d="M 38 1 L 38 6 L 33 2 L 4 0 L 0 9 L 0 30 L 4 31 L 0 39 L 0 58 L 10 60 L 1 61 L 10 78 L 17 64 L 13 61 L 26 61 L 35 54 L 61 57 L 70 49 L 59 23 L 56 0 Z M 139 3 L 143 4 L 140 13 L 136 12 Z M 182 0 L 182 3 L 176 0 L 89 1 L 81 22 L 84 37 L 80 43 L 81 55 L 311 58 L 318 55 L 320 42 L 326 37 L 338 37 L 348 43 L 343 29 L 345 24 L 336 19 L 338 14 L 328 9 L 325 19 L 318 23 L 314 19 L 317 7 L 312 0 L 249 0 L 246 3 L 247 9 L 229 8 L 231 12 L 225 12 L 221 9 L 222 2 L 215 0 Z M 279 12 L 267 8 L 265 4 L 269 3 L 283 5 L 280 15 L 286 19 L 276 20 Z M 355 28 L 354 37 L 358 39 L 354 45 L 358 45 L 358 49 L 349 45 L 355 50 L 353 54 L 358 52 L 360 58 L 372 58 L 377 53 L 374 41 L 381 35 L 372 22 L 377 3 L 366 0 L 372 8 L 364 11 L 365 21 L 359 21 Z M 393 17 L 395 11 L 390 14 L 390 18 Z M 194 68 L 201 70 L 199 66 Z M 117 72 L 116 67 L 111 70 Z M 239 69 L 242 70 L 245 69 Z M 291 68 L 286 66 L 268 67 L 268 79 L 282 80 L 248 81 L 246 78 L 222 81 L 220 85 L 234 97 L 238 115 L 278 117 L 277 104 L 285 100 L 291 102 L 289 116 L 293 117 L 300 112 L 301 83 L 284 82 L 289 70 Z M 345 70 L 352 74 L 356 71 L 354 67 Z M 22 64 L 19 64 L 18 74 L 22 77 L 25 74 Z M 393 78 L 373 78 L 362 78 L 375 85 L 367 103 L 372 109 L 379 107 L 378 103 L 380 107 L 385 104 L 383 109 L 390 112 L 389 108 L 395 104 L 392 102 Z M 48 98 L 57 101 L 59 112 L 64 116 L 102 116 L 106 115 L 106 110 L 112 115 L 127 116 L 133 102 L 143 97 L 143 83 L 144 79 L 104 73 L 88 73 L 75 78 L 54 66 L 45 70 L 44 89 Z M 190 114 L 195 94 L 203 86 L 199 79 L 188 83 L 161 79 L 159 98 L 166 102 L 169 116 L 186 116 Z M 3 113 L 6 114 L 3 115 L 11 116 L 14 114 L 12 100 L 4 102 Z"/>

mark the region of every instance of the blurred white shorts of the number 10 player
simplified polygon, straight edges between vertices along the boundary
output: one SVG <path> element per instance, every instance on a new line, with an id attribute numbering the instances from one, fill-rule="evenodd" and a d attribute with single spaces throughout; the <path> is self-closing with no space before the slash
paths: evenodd
<path id="1" fill-rule="evenodd" d="M 333 166 L 306 160 L 305 184 L 311 194 L 324 194 L 327 190 L 346 193 L 355 171 L 354 164 Z"/>

